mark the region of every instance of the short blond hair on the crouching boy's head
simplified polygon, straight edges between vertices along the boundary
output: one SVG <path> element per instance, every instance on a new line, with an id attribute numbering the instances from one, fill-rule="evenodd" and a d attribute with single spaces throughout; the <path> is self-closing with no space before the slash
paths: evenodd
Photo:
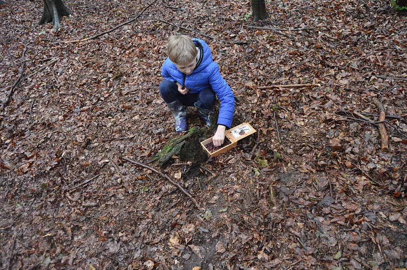
<path id="1" fill-rule="evenodd" d="M 198 52 L 190 37 L 171 36 L 168 39 L 167 54 L 171 62 L 182 65 L 195 60 Z"/>

